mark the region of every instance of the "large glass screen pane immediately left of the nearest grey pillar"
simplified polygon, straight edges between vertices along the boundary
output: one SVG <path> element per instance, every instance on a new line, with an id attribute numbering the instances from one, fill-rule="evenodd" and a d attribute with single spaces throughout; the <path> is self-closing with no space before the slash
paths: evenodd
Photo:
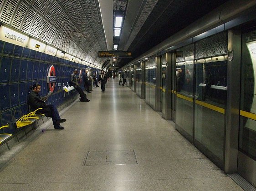
<path id="1" fill-rule="evenodd" d="M 227 34 L 195 43 L 195 140 L 220 167 L 224 162 Z"/>

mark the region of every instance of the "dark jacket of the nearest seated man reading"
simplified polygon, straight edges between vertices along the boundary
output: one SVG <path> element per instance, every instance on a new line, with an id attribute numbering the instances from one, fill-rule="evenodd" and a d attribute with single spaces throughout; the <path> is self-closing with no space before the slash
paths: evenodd
<path id="1" fill-rule="evenodd" d="M 38 93 L 31 91 L 31 93 L 28 95 L 28 104 L 33 111 L 38 108 L 43 108 L 38 110 L 36 113 L 43 113 L 46 117 L 52 117 L 51 108 L 49 108 L 47 104 L 41 100 Z"/>

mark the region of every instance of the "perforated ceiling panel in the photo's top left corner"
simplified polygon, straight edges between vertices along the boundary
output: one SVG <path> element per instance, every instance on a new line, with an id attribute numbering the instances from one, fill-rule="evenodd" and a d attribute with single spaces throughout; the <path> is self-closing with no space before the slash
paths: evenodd
<path id="1" fill-rule="evenodd" d="M 2 8 L 0 20 L 4 23 L 10 24 L 10 20 L 18 3 L 19 0 L 7 0 Z"/>

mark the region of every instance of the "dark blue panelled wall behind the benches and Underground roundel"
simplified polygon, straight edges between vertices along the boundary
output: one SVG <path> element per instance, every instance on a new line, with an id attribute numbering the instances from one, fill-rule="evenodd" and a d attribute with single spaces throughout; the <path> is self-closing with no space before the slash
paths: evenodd
<path id="1" fill-rule="evenodd" d="M 0 41 L 0 126 L 7 123 L 10 126 L 5 128 L 5 132 L 14 133 L 14 121 L 29 113 L 27 96 L 30 85 L 38 82 L 41 84 L 41 96 L 48 93 L 46 73 L 51 65 L 55 68 L 56 84 L 48 104 L 67 106 L 79 94 L 73 90 L 64 97 L 64 91 L 60 91 L 62 83 L 67 85 L 72 71 L 85 69 L 85 65 Z M 61 83 L 61 87 L 57 83 Z M 83 83 L 81 88 L 84 89 Z"/>

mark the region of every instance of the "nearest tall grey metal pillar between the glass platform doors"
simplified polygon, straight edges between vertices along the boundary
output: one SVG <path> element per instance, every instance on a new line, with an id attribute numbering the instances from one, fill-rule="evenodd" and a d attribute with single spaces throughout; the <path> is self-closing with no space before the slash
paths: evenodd
<path id="1" fill-rule="evenodd" d="M 236 173 L 238 158 L 239 115 L 240 115 L 240 73 L 241 73 L 241 32 L 228 32 L 228 51 L 233 59 L 228 60 L 227 107 L 225 137 L 225 173 Z"/>

